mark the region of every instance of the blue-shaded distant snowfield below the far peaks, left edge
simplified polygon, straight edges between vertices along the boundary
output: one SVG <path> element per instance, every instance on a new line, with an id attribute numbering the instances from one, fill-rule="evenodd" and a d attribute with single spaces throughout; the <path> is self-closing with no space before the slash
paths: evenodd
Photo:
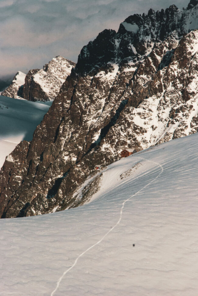
<path id="1" fill-rule="evenodd" d="M 0 96 L 0 167 L 20 141 L 32 139 L 50 105 Z"/>

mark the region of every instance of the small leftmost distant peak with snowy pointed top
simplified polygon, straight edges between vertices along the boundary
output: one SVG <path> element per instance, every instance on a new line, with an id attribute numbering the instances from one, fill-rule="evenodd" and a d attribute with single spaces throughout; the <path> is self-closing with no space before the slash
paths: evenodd
<path id="1" fill-rule="evenodd" d="M 2 92 L 2 96 L 9 98 L 22 98 L 23 84 L 25 83 L 26 74 L 23 72 L 17 72 L 12 80 L 12 83 Z"/>

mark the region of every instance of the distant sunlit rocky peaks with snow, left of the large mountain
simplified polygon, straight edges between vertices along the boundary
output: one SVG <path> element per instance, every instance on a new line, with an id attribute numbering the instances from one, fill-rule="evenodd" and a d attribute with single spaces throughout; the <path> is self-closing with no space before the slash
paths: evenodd
<path id="1" fill-rule="evenodd" d="M 2 95 L 11 98 L 24 98 L 29 101 L 53 100 L 75 65 L 74 62 L 57 56 L 45 64 L 41 70 L 30 70 L 27 75 L 18 72 L 12 84 Z"/>

